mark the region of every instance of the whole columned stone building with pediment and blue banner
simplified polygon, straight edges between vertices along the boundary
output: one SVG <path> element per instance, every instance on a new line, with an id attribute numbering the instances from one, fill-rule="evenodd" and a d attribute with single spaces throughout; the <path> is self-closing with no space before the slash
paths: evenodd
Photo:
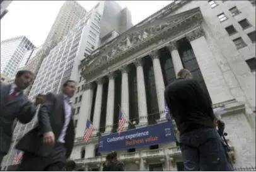
<path id="1" fill-rule="evenodd" d="M 250 1 L 175 1 L 86 56 L 79 65 L 71 159 L 100 171 L 105 156 L 116 150 L 126 171 L 182 171 L 178 142 L 161 139 L 176 127 L 161 125 L 165 87 L 187 68 L 213 107 L 226 111 L 221 119 L 233 166 L 255 166 L 254 14 Z M 115 137 L 120 108 L 131 122 L 126 120 L 123 137 Z M 88 142 L 83 141 L 86 119 L 95 127 Z M 151 144 L 142 144 L 140 136 Z M 102 146 L 107 151 L 99 151 Z"/>

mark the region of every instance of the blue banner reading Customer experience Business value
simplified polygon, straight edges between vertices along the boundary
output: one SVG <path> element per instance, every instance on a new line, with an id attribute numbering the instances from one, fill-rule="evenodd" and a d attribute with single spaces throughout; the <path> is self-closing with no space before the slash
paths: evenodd
<path id="1" fill-rule="evenodd" d="M 154 144 L 175 141 L 172 122 L 163 122 L 153 126 L 101 136 L 99 138 L 98 151 L 110 152 L 122 149 L 139 148 Z"/>

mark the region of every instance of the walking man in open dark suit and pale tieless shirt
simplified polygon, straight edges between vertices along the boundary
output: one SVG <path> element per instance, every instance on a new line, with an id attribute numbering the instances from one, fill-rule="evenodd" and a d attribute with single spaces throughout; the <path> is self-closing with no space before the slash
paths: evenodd
<path id="1" fill-rule="evenodd" d="M 62 171 L 74 145 L 73 107 L 71 98 L 76 82 L 68 80 L 62 93 L 47 94 L 38 112 L 38 126 L 16 145 L 24 151 L 20 171 Z"/>

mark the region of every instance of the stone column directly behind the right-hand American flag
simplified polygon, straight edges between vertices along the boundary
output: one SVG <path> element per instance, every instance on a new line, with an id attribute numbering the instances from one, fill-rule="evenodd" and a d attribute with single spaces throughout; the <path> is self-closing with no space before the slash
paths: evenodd
<path id="1" fill-rule="evenodd" d="M 127 129 L 129 125 L 129 82 L 128 82 L 128 72 L 129 68 L 127 66 L 120 68 L 122 72 L 122 92 L 121 92 L 121 109 L 125 114 L 126 122 L 125 128 Z"/>

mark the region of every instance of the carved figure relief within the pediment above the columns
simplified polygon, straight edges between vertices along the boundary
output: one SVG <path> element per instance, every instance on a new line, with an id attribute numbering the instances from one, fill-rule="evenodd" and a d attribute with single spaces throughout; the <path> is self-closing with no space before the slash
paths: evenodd
<path id="1" fill-rule="evenodd" d="M 200 13 L 200 8 L 190 9 L 188 11 L 173 14 L 169 16 L 161 16 L 150 23 L 145 23 L 139 27 L 132 27 L 130 30 L 125 31 L 122 35 L 119 35 L 115 40 L 107 43 L 100 48 L 96 53 L 87 58 L 86 70 L 93 70 L 109 60 L 112 60 L 116 56 L 122 54 L 122 52 L 127 51 L 139 44 L 143 43 L 143 41 L 149 40 L 154 36 L 158 35 L 158 33 L 170 28 L 171 26 L 175 26 L 177 23 L 180 23 L 190 16 Z"/>

